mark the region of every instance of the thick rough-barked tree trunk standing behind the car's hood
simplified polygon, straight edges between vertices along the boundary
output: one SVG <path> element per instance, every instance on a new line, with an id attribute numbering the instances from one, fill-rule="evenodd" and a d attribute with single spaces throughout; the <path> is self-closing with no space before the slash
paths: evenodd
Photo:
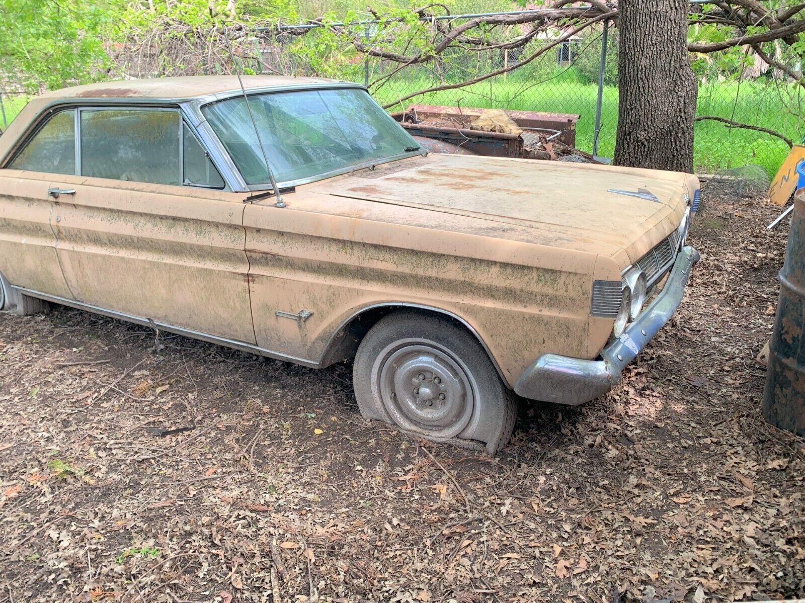
<path id="1" fill-rule="evenodd" d="M 687 0 L 621 0 L 616 165 L 693 171 Z"/>

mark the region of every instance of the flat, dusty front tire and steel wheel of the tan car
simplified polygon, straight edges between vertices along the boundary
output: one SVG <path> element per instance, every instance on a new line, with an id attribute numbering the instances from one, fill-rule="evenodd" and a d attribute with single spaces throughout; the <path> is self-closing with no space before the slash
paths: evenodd
<path id="1" fill-rule="evenodd" d="M 514 430 L 514 394 L 476 338 L 447 318 L 379 320 L 358 347 L 353 383 L 361 415 L 428 440 L 495 454 Z"/>

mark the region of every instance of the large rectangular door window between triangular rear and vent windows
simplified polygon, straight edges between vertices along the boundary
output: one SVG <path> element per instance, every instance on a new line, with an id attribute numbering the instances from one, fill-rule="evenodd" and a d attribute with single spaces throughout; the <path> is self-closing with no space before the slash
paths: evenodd
<path id="1" fill-rule="evenodd" d="M 182 184 L 175 110 L 81 109 L 81 176 Z"/>

